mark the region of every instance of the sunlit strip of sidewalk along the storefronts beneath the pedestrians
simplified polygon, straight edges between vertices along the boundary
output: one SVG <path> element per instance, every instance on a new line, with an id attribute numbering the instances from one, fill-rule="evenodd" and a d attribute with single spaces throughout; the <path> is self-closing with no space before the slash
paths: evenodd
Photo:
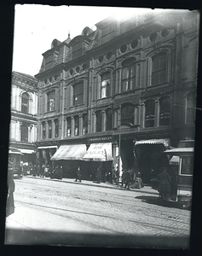
<path id="1" fill-rule="evenodd" d="M 55 182 L 61 182 L 61 183 L 74 183 L 74 184 L 80 184 L 80 185 L 87 185 L 87 186 L 96 186 L 96 187 L 101 187 L 101 188 L 107 188 L 107 189 L 124 189 L 124 187 L 119 187 L 115 183 L 96 183 L 91 180 L 82 180 L 81 183 L 75 182 L 75 178 L 68 178 L 68 177 L 63 177 L 62 179 L 57 179 L 57 178 L 50 178 L 50 177 L 33 177 L 31 175 L 25 176 L 29 178 L 40 178 L 40 179 L 45 179 L 49 181 L 55 181 Z M 126 189 L 124 189 L 126 190 Z M 141 193 L 146 193 L 146 194 L 153 194 L 153 195 L 159 195 L 159 192 L 155 189 L 152 189 L 151 186 L 145 185 L 141 189 L 130 189 L 130 191 L 136 191 L 136 192 L 141 192 Z"/>

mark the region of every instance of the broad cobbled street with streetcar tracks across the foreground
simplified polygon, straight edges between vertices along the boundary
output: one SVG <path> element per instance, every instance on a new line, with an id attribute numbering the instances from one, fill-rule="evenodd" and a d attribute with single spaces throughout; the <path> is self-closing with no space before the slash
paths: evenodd
<path id="1" fill-rule="evenodd" d="M 72 179 L 14 180 L 15 212 L 6 244 L 111 247 L 188 247 L 190 215 L 156 190 Z"/>

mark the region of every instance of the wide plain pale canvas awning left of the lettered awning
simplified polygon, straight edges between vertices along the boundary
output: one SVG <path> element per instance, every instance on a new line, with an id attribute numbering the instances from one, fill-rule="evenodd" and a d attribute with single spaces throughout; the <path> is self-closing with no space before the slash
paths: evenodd
<path id="1" fill-rule="evenodd" d="M 61 145 L 50 160 L 83 160 L 85 144 Z"/>

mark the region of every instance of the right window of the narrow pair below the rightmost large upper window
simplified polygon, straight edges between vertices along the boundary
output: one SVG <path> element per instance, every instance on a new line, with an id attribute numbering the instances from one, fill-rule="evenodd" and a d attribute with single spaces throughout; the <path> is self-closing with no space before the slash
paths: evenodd
<path id="1" fill-rule="evenodd" d="M 164 97 L 160 101 L 159 125 L 170 125 L 170 98 Z"/>

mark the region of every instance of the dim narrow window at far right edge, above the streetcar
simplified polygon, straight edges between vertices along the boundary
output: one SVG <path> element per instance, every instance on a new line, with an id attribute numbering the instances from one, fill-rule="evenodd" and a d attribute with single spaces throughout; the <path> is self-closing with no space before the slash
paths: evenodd
<path id="1" fill-rule="evenodd" d="M 187 97 L 187 115 L 186 115 L 187 124 L 193 123 L 195 121 L 195 108 L 196 108 L 195 93 L 190 92 Z"/>

